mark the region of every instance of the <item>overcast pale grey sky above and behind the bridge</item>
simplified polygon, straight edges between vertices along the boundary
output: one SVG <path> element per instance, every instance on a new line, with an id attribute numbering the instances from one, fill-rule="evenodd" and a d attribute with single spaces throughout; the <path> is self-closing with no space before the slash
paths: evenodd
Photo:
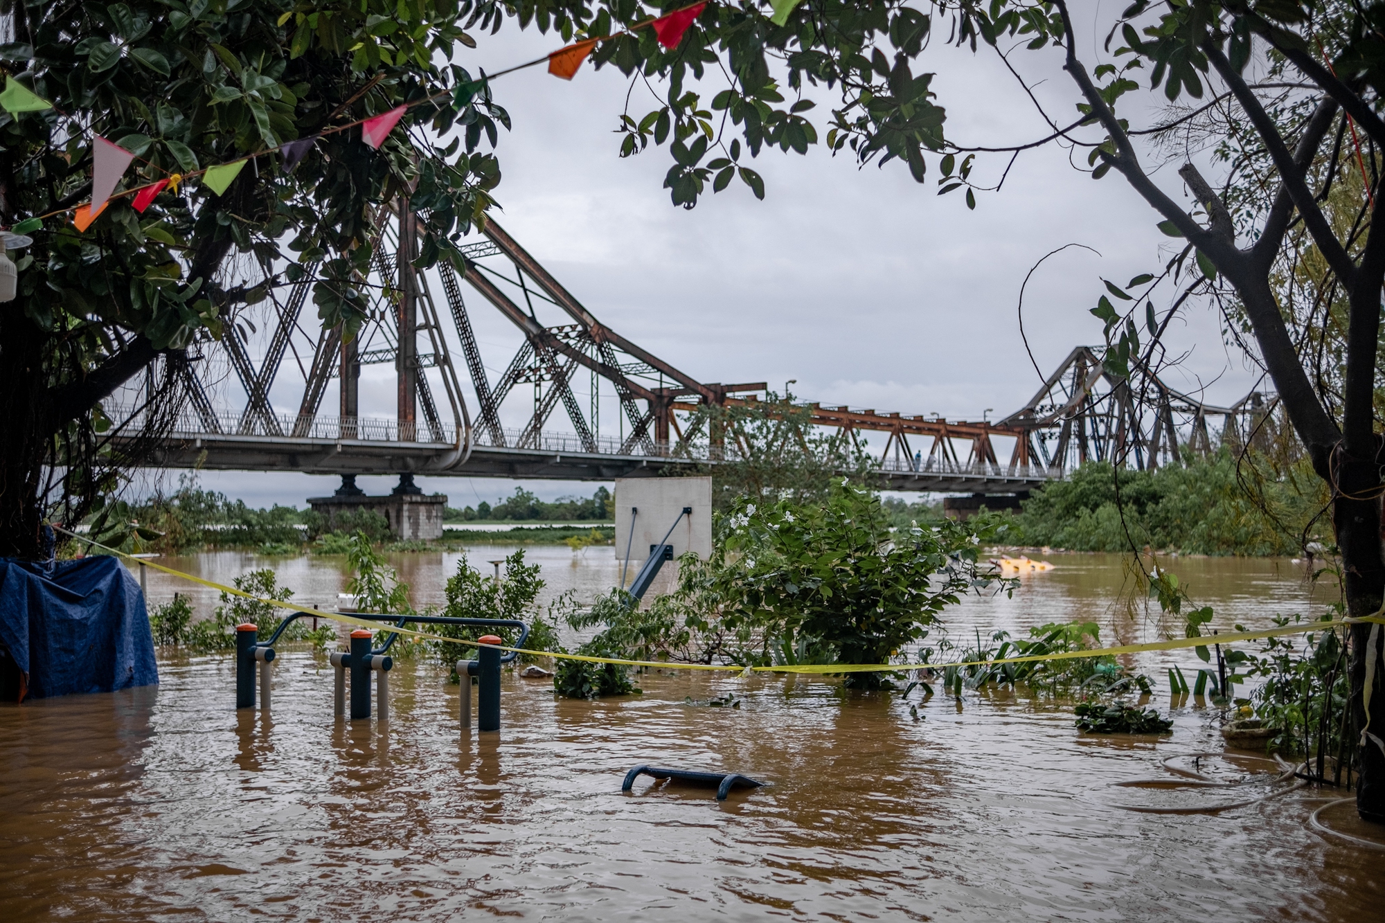
<path id="1" fill-rule="evenodd" d="M 464 62 L 488 71 L 560 44 L 508 26 L 478 37 L 479 49 L 467 51 Z M 1021 50 L 1014 60 L 1054 118 L 1071 121 L 1073 91 L 1058 53 Z M 1014 144 L 1046 133 L 994 53 L 974 55 L 938 43 L 922 68 L 938 72 L 933 87 L 954 141 Z M 920 186 L 899 162 L 859 169 L 849 155 L 834 158 L 820 147 L 806 157 L 763 152 L 753 164 L 765 177 L 763 202 L 735 183 L 704 195 L 692 211 L 674 208 L 662 188 L 666 151 L 616 155 L 620 139 L 612 130 L 627 89 L 615 68 L 590 65 L 571 83 L 543 68 L 497 80 L 496 97 L 514 130 L 499 143 L 504 180 L 496 215 L 597 317 L 702 381 L 783 388 L 796 380 L 794 392 L 812 401 L 961 419 L 979 419 L 988 409 L 992 419 L 1006 416 L 1039 384 L 1015 316 L 1021 281 L 1035 261 L 1066 243 L 1100 251 L 1068 249 L 1029 283 L 1025 328 L 1047 373 L 1072 346 L 1100 341 L 1100 323 L 1087 309 L 1101 292 L 1101 276 L 1125 283 L 1169 258 L 1170 241 L 1156 230 L 1155 213 L 1129 186 L 1115 173 L 1091 180 L 1058 147 L 1022 154 L 1001 191 L 979 195 L 975 211 L 960 191 L 935 195 L 936 173 Z M 708 83 L 705 98 L 719 89 Z M 1136 123 L 1141 115 L 1156 118 L 1158 100 L 1133 96 L 1140 100 L 1127 116 Z M 834 97 L 817 91 L 814 112 L 825 114 Z M 656 105 L 644 87 L 632 94 L 636 118 Z M 979 158 L 981 183 L 993 184 L 1006 161 Z M 1156 179 L 1184 197 L 1172 168 Z M 468 305 L 486 364 L 499 374 L 518 335 L 479 297 Z M 1170 340 L 1192 346 L 1170 384 L 1192 389 L 1215 381 L 1206 392 L 1213 402 L 1231 402 L 1252 387 L 1253 371 L 1223 346 L 1209 309 L 1191 309 Z M 389 366 L 366 371 L 363 413 L 392 414 L 392 374 Z M 276 402 L 296 409 L 296 395 L 276 395 Z M 256 506 L 302 504 L 335 486 L 330 478 L 292 473 L 202 473 L 201 482 Z M 391 482 L 361 481 L 370 492 Z M 493 502 L 512 489 L 512 482 L 485 478 L 421 484 L 456 504 Z M 526 486 L 546 498 L 596 488 Z"/>

